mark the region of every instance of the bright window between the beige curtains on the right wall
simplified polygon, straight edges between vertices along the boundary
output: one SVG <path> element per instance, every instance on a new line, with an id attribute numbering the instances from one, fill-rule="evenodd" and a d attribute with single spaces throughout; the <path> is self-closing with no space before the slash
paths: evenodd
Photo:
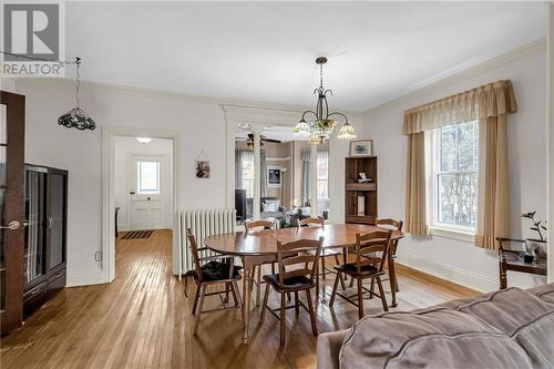
<path id="1" fill-rule="evenodd" d="M 478 213 L 479 125 L 432 132 L 432 226 L 474 232 Z"/>

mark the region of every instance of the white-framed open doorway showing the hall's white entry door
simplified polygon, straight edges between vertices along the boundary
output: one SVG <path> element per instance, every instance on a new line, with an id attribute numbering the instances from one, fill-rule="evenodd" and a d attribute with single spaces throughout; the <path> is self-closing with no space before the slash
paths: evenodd
<path id="1" fill-rule="evenodd" d="M 102 130 L 104 281 L 115 278 L 116 229 L 120 238 L 130 232 L 140 234 L 138 238 L 148 238 L 143 236 L 152 234 L 151 230 L 172 230 L 172 268 L 176 270 L 178 235 L 173 230 L 176 224 L 178 133 L 122 126 L 104 126 Z"/>

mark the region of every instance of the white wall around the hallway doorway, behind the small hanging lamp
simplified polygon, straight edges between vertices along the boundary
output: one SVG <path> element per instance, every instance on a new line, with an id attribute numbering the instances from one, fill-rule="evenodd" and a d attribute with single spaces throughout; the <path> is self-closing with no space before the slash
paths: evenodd
<path id="1" fill-rule="evenodd" d="M 70 130 L 58 117 L 73 107 L 74 86 L 64 81 L 17 81 L 27 96 L 25 161 L 69 171 L 68 284 L 99 283 L 102 264 L 102 126 L 137 126 L 179 132 L 178 208 L 225 206 L 225 119 L 220 105 L 170 94 L 82 85 L 81 105 L 96 121 L 95 131 Z M 212 177 L 195 177 L 204 150 Z"/>

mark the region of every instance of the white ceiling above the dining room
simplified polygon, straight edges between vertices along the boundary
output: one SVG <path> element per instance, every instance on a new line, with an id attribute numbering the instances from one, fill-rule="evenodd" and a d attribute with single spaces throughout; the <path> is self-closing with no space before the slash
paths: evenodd
<path id="1" fill-rule="evenodd" d="M 68 2 L 83 80 L 365 111 L 545 34 L 540 2 Z"/>

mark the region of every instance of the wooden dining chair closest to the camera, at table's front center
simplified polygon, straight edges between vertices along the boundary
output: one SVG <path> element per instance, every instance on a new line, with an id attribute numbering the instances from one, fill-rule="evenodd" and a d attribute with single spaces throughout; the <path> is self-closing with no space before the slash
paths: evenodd
<path id="1" fill-rule="evenodd" d="M 290 308 L 295 308 L 296 315 L 299 314 L 300 306 L 309 312 L 311 332 L 314 337 L 317 337 L 316 315 L 310 289 L 316 287 L 317 265 L 324 237 L 319 237 L 318 240 L 298 239 L 288 244 L 281 244 L 280 240 L 277 240 L 278 274 L 264 276 L 267 285 L 259 321 L 260 324 L 264 322 L 266 309 L 280 320 L 280 346 L 285 345 L 285 311 Z M 297 256 L 287 257 L 291 253 L 295 253 Z M 267 306 L 270 288 L 280 294 L 280 307 L 277 309 L 271 309 Z M 298 293 L 302 290 L 306 291 L 308 306 L 298 298 Z M 291 293 L 295 294 L 295 304 L 286 306 L 285 295 Z M 280 310 L 280 315 L 276 314 L 277 310 Z"/>

